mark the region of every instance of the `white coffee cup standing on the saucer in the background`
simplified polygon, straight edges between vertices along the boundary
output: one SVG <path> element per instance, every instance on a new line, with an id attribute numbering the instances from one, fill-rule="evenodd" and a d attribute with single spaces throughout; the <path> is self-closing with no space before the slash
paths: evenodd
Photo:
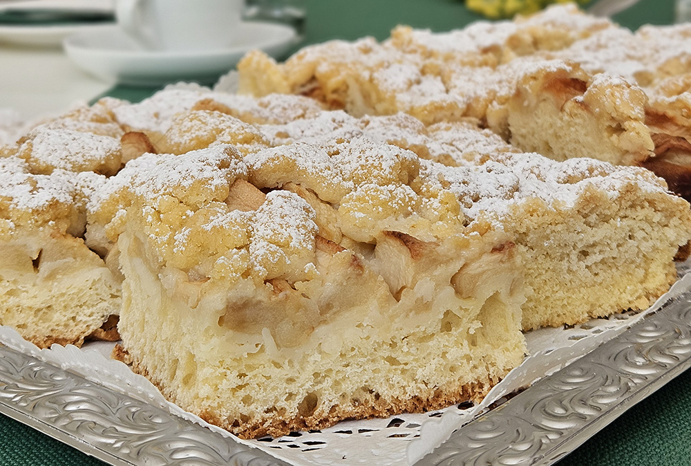
<path id="1" fill-rule="evenodd" d="M 143 48 L 201 51 L 236 40 L 244 0 L 116 0 L 117 24 Z"/>

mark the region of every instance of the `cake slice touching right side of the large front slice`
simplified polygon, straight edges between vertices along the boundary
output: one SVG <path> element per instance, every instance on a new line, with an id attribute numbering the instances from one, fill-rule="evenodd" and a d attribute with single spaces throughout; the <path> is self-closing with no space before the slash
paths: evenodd
<path id="1" fill-rule="evenodd" d="M 436 166 L 429 179 L 477 199 L 466 216 L 485 209 L 511 235 L 527 295 L 524 330 L 645 309 L 676 281 L 691 211 L 650 171 L 529 153 L 495 159 L 471 183 L 461 167 Z"/>

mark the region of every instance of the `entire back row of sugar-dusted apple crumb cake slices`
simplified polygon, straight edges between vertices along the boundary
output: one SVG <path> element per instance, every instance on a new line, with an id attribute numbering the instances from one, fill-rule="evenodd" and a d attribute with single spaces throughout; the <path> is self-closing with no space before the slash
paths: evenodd
<path id="1" fill-rule="evenodd" d="M 691 140 L 668 132 L 683 97 L 655 94 L 691 71 L 690 47 L 688 25 L 634 33 L 571 5 L 453 32 L 397 28 L 381 43 L 331 41 L 284 64 L 250 53 L 238 70 L 242 93 L 303 94 L 356 116 L 402 111 L 424 124 L 477 118 L 524 151 L 643 165 L 688 195 Z"/>

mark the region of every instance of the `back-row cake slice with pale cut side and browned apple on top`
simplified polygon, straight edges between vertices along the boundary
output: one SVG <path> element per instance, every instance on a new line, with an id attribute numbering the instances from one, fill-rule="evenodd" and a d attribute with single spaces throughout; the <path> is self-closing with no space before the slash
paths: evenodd
<path id="1" fill-rule="evenodd" d="M 545 67 L 524 75 L 508 102 L 511 144 L 554 160 L 641 165 L 654 155 L 646 106 L 643 90 L 621 77 Z"/>

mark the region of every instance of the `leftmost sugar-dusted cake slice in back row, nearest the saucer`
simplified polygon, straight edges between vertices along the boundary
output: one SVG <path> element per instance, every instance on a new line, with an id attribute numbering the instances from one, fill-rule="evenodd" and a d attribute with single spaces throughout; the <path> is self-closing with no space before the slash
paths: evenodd
<path id="1" fill-rule="evenodd" d="M 507 73 L 511 68 L 500 70 L 502 65 L 516 57 L 549 58 L 613 27 L 574 6 L 558 6 L 513 22 L 478 21 L 451 32 L 399 27 L 381 43 L 371 37 L 328 41 L 299 50 L 283 64 L 255 51 L 238 64 L 239 92 L 308 95 L 355 116 L 404 111 L 426 124 L 464 116 L 484 120 L 504 83 L 515 81 L 516 69 Z"/>

